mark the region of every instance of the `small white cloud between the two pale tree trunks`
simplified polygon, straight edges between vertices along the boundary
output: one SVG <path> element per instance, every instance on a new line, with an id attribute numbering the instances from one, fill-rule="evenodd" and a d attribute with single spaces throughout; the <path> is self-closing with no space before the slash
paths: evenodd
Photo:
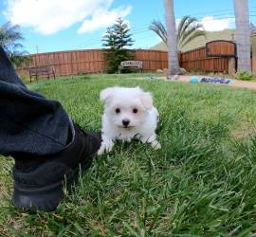
<path id="1" fill-rule="evenodd" d="M 207 31 L 218 31 L 233 27 L 234 19 L 216 19 L 213 18 L 213 16 L 205 16 L 199 23 L 202 24 Z"/>

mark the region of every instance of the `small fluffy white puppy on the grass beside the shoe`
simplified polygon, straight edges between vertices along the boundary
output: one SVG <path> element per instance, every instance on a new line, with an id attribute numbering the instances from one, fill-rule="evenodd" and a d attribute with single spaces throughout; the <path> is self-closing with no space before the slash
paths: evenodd
<path id="1" fill-rule="evenodd" d="M 130 142 L 137 138 L 149 142 L 155 149 L 161 145 L 156 139 L 158 112 L 149 92 L 139 87 L 109 87 L 101 91 L 104 102 L 102 142 L 98 155 L 110 152 L 116 139 Z"/>

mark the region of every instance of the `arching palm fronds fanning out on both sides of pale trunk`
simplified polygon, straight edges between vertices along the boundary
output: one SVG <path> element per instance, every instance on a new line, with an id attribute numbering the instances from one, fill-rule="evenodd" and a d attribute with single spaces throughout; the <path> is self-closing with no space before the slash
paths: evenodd
<path id="1" fill-rule="evenodd" d="M 153 21 L 149 28 L 167 45 L 166 27 L 160 21 Z M 184 46 L 199 36 L 206 36 L 203 25 L 199 24 L 194 17 L 184 16 L 177 28 L 177 50 L 180 52 Z"/>

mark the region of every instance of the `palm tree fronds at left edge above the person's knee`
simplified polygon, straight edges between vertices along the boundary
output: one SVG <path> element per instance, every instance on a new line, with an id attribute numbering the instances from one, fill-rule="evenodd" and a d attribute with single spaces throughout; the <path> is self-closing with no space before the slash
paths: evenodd
<path id="1" fill-rule="evenodd" d="M 16 66 L 27 64 L 30 60 L 28 56 L 24 56 L 27 51 L 23 50 L 24 46 L 19 43 L 24 40 L 19 29 L 18 26 L 11 26 L 9 22 L 0 27 L 0 46 L 7 52 L 11 63 Z"/>

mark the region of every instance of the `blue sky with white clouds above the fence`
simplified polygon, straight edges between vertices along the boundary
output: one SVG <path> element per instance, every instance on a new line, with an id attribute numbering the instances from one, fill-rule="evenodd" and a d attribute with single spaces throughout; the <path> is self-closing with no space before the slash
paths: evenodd
<path id="1" fill-rule="evenodd" d="M 248 0 L 256 24 L 256 0 Z M 232 0 L 174 0 L 175 16 L 197 17 L 207 30 L 234 27 Z M 19 24 L 30 53 L 100 48 L 105 28 L 119 16 L 131 26 L 135 48 L 160 42 L 148 26 L 164 20 L 163 0 L 0 0 L 0 25 Z"/>

